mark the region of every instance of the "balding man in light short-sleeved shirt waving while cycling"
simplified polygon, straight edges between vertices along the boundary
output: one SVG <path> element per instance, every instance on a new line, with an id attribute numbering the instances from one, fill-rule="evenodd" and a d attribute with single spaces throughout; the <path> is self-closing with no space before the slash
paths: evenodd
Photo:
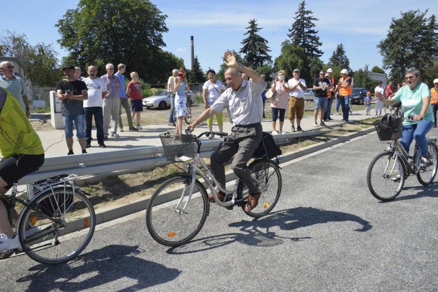
<path id="1" fill-rule="evenodd" d="M 254 70 L 239 64 L 234 55 L 226 51 L 224 53 L 225 81 L 229 88 L 206 109 L 187 129 L 192 132 L 194 128 L 209 119 L 216 112 L 222 112 L 225 108 L 228 110 L 230 123 L 233 124 L 231 134 L 217 147 L 211 155 L 211 170 L 214 177 L 225 188 L 225 167 L 224 163 L 228 162 L 235 155 L 231 167 L 245 186 L 248 188 L 248 202 L 245 211 L 255 208 L 260 199 L 260 191 L 251 178 L 247 163 L 252 157 L 252 153 L 262 141 L 262 116 L 263 102 L 261 94 L 266 88 L 266 82 L 259 79 L 259 74 Z M 249 80 L 242 79 L 239 73 L 245 73 Z M 224 199 L 225 194 L 217 192 L 220 200 Z M 214 201 L 213 196 L 209 196 L 210 201 Z"/>

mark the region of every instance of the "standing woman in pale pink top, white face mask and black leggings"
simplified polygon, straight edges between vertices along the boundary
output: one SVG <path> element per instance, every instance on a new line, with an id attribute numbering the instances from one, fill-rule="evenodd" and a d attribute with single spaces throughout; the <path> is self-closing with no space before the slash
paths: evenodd
<path id="1" fill-rule="evenodd" d="M 289 84 L 284 81 L 284 71 L 278 72 L 278 81 L 273 80 L 271 91 L 274 93 L 272 96 L 271 109 L 272 109 L 272 135 L 283 133 L 284 113 L 286 112 L 288 103 L 288 93 L 284 90 L 283 86 L 289 87 Z M 280 118 L 280 130 L 276 131 L 277 118 Z"/>

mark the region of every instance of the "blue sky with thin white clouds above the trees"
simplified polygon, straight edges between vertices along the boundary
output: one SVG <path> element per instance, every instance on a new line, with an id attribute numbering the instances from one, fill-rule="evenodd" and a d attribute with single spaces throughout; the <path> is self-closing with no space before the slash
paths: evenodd
<path id="1" fill-rule="evenodd" d="M 280 45 L 286 40 L 288 29 L 294 23 L 295 12 L 301 1 L 168 1 L 152 0 L 163 14 L 167 14 L 166 26 L 169 32 L 163 35 L 167 45 L 164 48 L 182 57 L 187 68 L 190 64 L 190 36 L 194 36 L 194 51 L 204 70 L 209 67 L 218 70 L 223 52 L 227 49 L 239 51 L 241 41 L 250 19 L 255 18 L 259 31 L 268 41 L 272 61 L 280 54 Z M 16 30 L 26 33 L 30 44 L 39 42 L 52 44 L 59 52 L 59 59 L 66 55 L 57 43 L 60 38 L 54 25 L 69 8 L 76 8 L 78 0 L 2 1 L 3 15 L 9 12 L 10 21 L 2 23 L 2 30 Z M 19 9 L 17 9 L 19 6 Z M 339 43 L 353 70 L 382 67 L 382 57 L 376 45 L 386 37 L 391 19 L 400 18 L 400 11 L 409 9 L 425 11 L 427 17 L 438 15 L 436 1 L 321 1 L 307 0 L 306 9 L 319 18 L 315 22 L 324 52 L 321 59 L 327 62 Z M 99 24 L 96 24 L 98 28 Z M 127 64 L 129 66 L 129 64 Z"/>

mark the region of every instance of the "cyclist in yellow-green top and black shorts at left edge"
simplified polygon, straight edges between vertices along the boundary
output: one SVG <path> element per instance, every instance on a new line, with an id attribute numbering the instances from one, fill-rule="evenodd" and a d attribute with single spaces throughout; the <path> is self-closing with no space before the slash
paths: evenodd
<path id="1" fill-rule="evenodd" d="M 5 194 L 13 183 L 34 172 L 44 163 L 44 149 L 20 103 L 0 88 L 0 193 Z M 20 247 L 19 237 L 11 228 L 6 200 L 0 200 L 0 251 Z M 13 218 L 18 215 L 14 211 Z"/>

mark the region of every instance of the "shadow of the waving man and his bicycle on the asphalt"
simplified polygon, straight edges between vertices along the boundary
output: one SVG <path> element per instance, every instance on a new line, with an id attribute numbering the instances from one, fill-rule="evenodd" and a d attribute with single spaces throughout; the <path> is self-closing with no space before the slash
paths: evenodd
<path id="1" fill-rule="evenodd" d="M 240 242 L 251 246 L 275 246 L 284 240 L 302 241 L 310 237 L 283 237 L 271 231 L 278 226 L 281 230 L 294 230 L 315 224 L 329 222 L 356 222 L 360 228 L 354 231 L 365 232 L 372 228 L 370 222 L 344 212 L 327 211 L 312 207 L 297 207 L 273 212 L 270 215 L 253 220 L 242 220 L 230 223 L 228 226 L 239 228 L 241 232 L 227 233 L 193 240 L 186 245 L 168 249 L 168 254 L 190 254 L 193 252 L 222 247 L 224 245 Z"/>

